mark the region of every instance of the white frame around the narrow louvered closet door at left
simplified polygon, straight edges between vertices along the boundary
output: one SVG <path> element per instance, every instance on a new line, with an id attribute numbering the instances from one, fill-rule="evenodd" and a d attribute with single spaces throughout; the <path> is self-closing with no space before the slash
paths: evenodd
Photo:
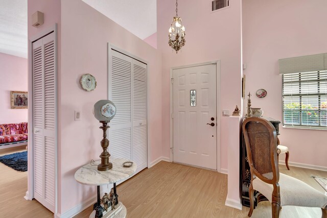
<path id="1" fill-rule="evenodd" d="M 57 129 L 55 130 L 55 213 L 56 216 L 58 212 L 58 38 L 57 38 L 57 23 L 49 29 L 42 31 L 37 34 L 35 37 L 29 39 L 28 47 L 29 47 L 29 57 L 30 60 L 28 62 L 28 176 L 27 176 L 27 191 L 25 195 L 26 200 L 33 200 L 34 198 L 34 158 L 33 158 L 33 42 L 54 32 L 55 34 L 55 89 L 57 90 L 55 93 L 55 105 L 57 109 L 55 110 L 55 125 Z"/>

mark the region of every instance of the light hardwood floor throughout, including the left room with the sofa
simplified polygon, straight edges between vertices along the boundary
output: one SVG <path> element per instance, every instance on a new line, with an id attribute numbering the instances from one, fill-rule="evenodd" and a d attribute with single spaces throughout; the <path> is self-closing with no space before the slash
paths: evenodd
<path id="1" fill-rule="evenodd" d="M 17 150 L 0 150 L 0 156 L 14 152 Z M 323 192 L 310 175 L 326 178 L 327 172 L 297 167 L 288 171 L 285 165 L 279 169 Z M 0 175 L 0 217 L 53 217 L 36 200 L 24 199 L 27 172 L 16 172 L 0 163 Z M 127 217 L 247 217 L 249 211 L 247 207 L 238 210 L 225 206 L 227 175 L 165 161 L 144 169 L 117 189 L 119 201 L 127 208 Z M 92 206 L 75 217 L 88 217 L 91 211 Z M 309 217 L 307 212 L 302 211 L 303 217 Z M 10 213 L 15 215 L 8 216 Z M 271 217 L 270 203 L 259 203 L 252 217 Z"/>

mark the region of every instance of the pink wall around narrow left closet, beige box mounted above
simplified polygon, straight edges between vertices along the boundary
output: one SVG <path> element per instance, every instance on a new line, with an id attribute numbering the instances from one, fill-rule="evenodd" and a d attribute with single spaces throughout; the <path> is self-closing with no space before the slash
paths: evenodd
<path id="1" fill-rule="evenodd" d="M 60 214 L 61 211 L 61 110 L 60 110 L 60 102 L 61 102 L 61 0 L 28 0 L 27 5 L 28 11 L 28 69 L 29 69 L 29 94 L 32 94 L 32 87 L 30 79 L 32 72 L 30 72 L 30 64 L 31 64 L 31 42 L 39 37 L 42 37 L 44 34 L 48 33 L 51 28 L 54 28 L 55 24 L 57 24 L 57 102 L 58 102 L 58 208 L 57 212 Z M 44 15 L 44 23 L 43 25 L 35 28 L 32 26 L 32 14 L 36 11 L 42 12 Z M 29 108 L 29 120 L 31 120 L 32 114 L 31 108 Z M 31 147 L 31 146 L 29 146 Z M 29 159 L 30 160 L 30 159 Z M 30 166 L 29 166 L 30 167 Z M 30 170 L 29 170 L 30 171 Z M 33 187 L 33 181 L 28 180 L 28 187 Z"/>

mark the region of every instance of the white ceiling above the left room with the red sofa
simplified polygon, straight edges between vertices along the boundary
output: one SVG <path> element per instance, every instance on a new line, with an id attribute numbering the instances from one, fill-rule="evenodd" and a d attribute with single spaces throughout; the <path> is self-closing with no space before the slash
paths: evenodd
<path id="1" fill-rule="evenodd" d="M 0 53 L 27 58 L 27 0 L 0 0 Z"/>

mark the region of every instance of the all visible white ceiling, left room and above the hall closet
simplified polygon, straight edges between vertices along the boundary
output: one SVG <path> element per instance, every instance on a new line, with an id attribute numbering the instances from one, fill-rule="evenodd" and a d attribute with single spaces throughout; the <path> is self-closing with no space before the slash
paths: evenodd
<path id="1" fill-rule="evenodd" d="M 156 0 L 82 0 L 137 37 L 157 32 Z M 27 0 L 0 0 L 0 53 L 27 58 Z"/>

